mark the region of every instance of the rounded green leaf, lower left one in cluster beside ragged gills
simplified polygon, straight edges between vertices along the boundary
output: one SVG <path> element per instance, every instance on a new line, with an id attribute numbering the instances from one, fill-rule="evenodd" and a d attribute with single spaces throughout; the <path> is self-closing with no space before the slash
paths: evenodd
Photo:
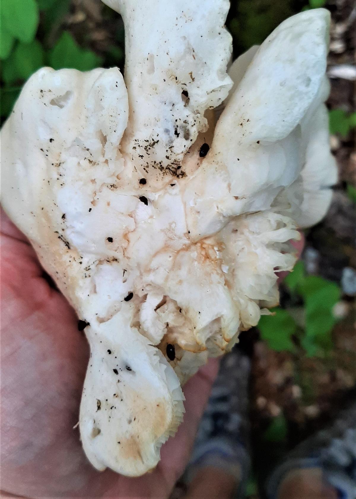
<path id="1" fill-rule="evenodd" d="M 293 352 L 295 347 L 291 337 L 297 330 L 295 320 L 283 308 L 274 308 L 271 312 L 275 315 L 262 315 L 258 323 L 262 339 L 276 352 Z"/>

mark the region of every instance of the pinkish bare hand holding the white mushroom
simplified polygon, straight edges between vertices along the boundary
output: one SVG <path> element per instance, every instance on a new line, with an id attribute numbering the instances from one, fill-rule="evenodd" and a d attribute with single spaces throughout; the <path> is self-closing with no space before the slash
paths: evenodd
<path id="1" fill-rule="evenodd" d="M 162 460 L 137 479 L 89 464 L 79 442 L 88 345 L 26 238 L 1 214 L 1 489 L 29 498 L 167 498 L 188 460 L 218 361 L 185 385 L 186 414 Z"/>

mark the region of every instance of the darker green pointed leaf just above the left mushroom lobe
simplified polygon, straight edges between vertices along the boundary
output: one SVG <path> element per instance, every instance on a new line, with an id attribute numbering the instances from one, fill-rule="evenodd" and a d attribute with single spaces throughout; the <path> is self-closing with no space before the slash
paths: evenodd
<path id="1" fill-rule="evenodd" d="M 63 67 L 89 71 L 99 66 L 101 57 L 92 50 L 79 47 L 72 35 L 64 31 L 49 53 L 50 64 L 54 69 Z"/>

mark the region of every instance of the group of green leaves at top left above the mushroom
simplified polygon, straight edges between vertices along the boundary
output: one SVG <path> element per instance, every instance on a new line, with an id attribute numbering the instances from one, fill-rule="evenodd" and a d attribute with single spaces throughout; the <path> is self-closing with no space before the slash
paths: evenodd
<path id="1" fill-rule="evenodd" d="M 24 81 L 43 65 L 88 71 L 102 64 L 101 57 L 81 48 L 67 31 L 62 32 L 54 45 L 48 43 L 47 34 L 53 26 L 60 26 L 69 5 L 70 0 L 0 0 L 2 117 L 10 113 Z"/>

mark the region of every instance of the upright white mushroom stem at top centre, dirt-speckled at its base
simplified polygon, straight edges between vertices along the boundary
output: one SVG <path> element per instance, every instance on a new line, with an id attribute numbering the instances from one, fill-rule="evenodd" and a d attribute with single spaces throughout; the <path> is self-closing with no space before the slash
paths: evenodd
<path id="1" fill-rule="evenodd" d="M 125 22 L 130 117 L 121 150 L 154 188 L 183 177 L 183 155 L 204 113 L 227 96 L 231 35 L 228 0 L 105 0 Z"/>

